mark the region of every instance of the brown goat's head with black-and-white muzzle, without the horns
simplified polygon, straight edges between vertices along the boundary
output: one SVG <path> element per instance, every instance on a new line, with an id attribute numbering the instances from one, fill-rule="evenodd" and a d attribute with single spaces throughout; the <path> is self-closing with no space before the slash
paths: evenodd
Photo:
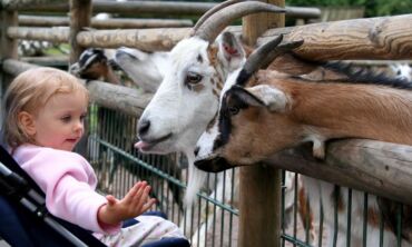
<path id="1" fill-rule="evenodd" d="M 217 125 L 197 142 L 195 165 L 220 171 L 293 147 L 300 126 L 288 117 L 291 107 L 287 93 L 268 85 L 233 86 L 222 99 Z"/>

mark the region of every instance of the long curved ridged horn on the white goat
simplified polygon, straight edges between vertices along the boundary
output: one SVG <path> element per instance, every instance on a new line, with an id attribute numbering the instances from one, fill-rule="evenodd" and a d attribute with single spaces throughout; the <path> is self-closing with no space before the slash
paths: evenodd
<path id="1" fill-rule="evenodd" d="M 216 37 L 235 19 L 257 12 L 286 12 L 277 6 L 259 2 L 259 1 L 245 1 L 236 4 L 230 4 L 225 9 L 220 9 L 204 21 L 194 36 L 200 39 L 213 42 Z"/>

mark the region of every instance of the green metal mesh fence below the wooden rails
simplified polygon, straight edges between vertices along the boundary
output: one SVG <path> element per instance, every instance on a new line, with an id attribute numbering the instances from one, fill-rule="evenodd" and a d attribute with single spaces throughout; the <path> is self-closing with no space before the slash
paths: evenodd
<path id="1" fill-rule="evenodd" d="M 99 179 L 99 190 L 122 197 L 138 180 L 147 180 L 151 187 L 151 196 L 157 198 L 156 210 L 164 211 L 168 218 L 178 224 L 190 238 L 193 246 L 237 246 L 238 210 L 237 206 L 237 170 L 228 170 L 224 175 L 210 174 L 204 189 L 198 194 L 194 206 L 185 208 L 183 202 L 187 181 L 187 162 L 178 154 L 157 156 L 139 154 L 134 147 L 136 141 L 136 119 L 116 110 L 90 107 L 88 117 L 87 158 L 96 169 Z M 302 202 L 298 176 L 283 172 L 282 196 L 282 237 L 281 246 L 371 246 L 370 227 L 371 209 L 370 196 L 363 196 L 362 216 L 352 208 L 352 190 L 339 190 L 346 197 L 346 210 L 352 213 L 341 223 L 339 198 L 335 200 L 331 215 L 334 220 L 332 227 L 325 227 L 323 207 L 313 208 L 308 202 Z M 340 187 L 335 187 L 340 189 Z M 346 192 L 347 191 L 347 192 Z M 311 191 L 308 191 L 311 194 Z M 336 194 L 337 195 L 337 194 Z M 302 205 L 304 204 L 304 205 Z M 318 204 L 322 205 L 322 204 Z M 398 240 L 389 246 L 401 246 L 402 205 L 398 205 L 396 218 L 393 226 L 384 223 L 384 213 L 381 210 L 373 224 L 379 225 L 379 246 L 388 246 L 385 228 L 392 227 Z M 315 211 L 317 210 L 317 211 Z M 306 214 L 302 214 L 306 211 Z M 331 210 L 328 210 L 331 211 Z M 301 214 L 300 214 L 301 213 Z M 310 213 L 316 213 L 313 217 Z M 253 214 L 253 213 L 252 213 Z M 353 217 L 363 217 L 362 226 L 353 225 Z M 313 226 L 311 229 L 308 226 Z M 353 239 L 351 230 L 362 231 L 362 239 Z M 342 236 L 344 235 L 344 236 Z M 342 244 L 344 243 L 344 244 Z M 351 245 L 352 244 L 352 245 Z M 272 246 L 272 245 L 267 245 Z"/>

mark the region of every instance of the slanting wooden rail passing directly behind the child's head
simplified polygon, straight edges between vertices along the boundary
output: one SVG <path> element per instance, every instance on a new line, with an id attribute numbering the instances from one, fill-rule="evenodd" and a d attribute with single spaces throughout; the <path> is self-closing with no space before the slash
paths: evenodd
<path id="1" fill-rule="evenodd" d="M 2 65 L 2 70 L 11 76 L 36 68 L 38 66 L 22 62 L 14 59 L 7 59 Z M 104 81 L 82 81 L 90 91 L 90 100 L 114 110 L 120 110 L 133 117 L 140 117 L 143 110 L 150 101 L 151 93 L 141 93 L 137 89 L 111 85 Z"/>

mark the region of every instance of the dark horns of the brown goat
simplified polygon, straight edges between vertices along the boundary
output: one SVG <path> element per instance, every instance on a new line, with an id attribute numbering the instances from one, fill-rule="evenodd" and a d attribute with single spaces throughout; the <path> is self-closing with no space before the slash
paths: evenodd
<path id="1" fill-rule="evenodd" d="M 276 39 L 257 48 L 246 60 L 243 69 L 248 75 L 253 75 L 259 69 L 266 69 L 275 58 L 282 53 L 302 46 L 303 40 L 285 42 L 278 46 L 283 40 L 283 34 Z"/>

